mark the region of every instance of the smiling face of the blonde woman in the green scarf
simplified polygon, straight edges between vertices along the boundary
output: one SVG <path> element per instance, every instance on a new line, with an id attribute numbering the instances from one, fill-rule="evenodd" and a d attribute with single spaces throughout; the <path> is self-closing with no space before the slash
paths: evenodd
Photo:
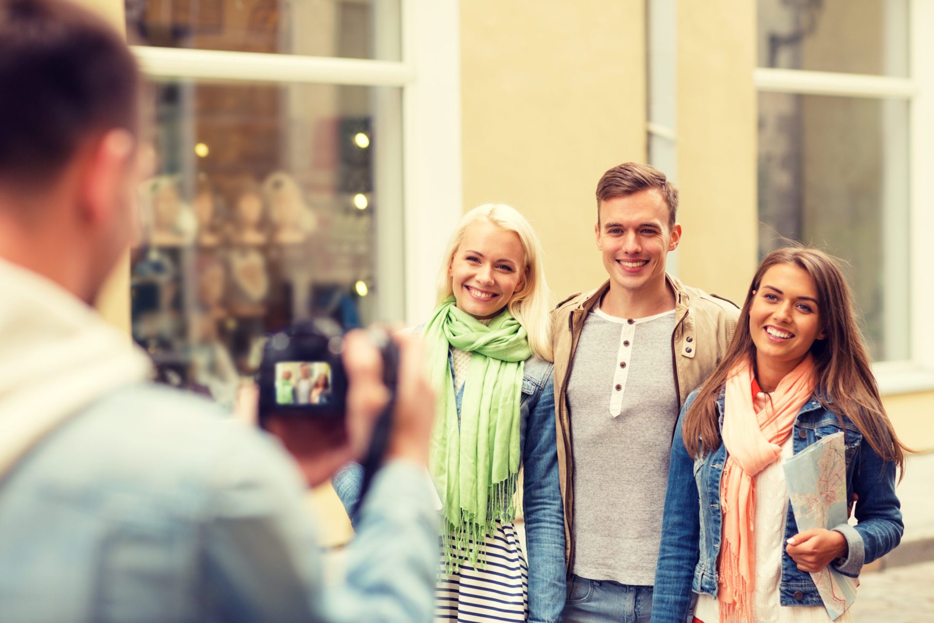
<path id="1" fill-rule="evenodd" d="M 525 252 L 516 232 L 479 220 L 464 232 L 448 274 L 460 310 L 495 316 L 525 285 Z"/>

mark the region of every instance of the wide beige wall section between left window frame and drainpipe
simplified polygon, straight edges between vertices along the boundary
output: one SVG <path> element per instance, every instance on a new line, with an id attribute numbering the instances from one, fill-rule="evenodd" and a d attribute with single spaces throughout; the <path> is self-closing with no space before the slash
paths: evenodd
<path id="1" fill-rule="evenodd" d="M 606 278 L 597 181 L 645 159 L 644 4 L 460 3 L 464 208 L 525 214 L 559 300 Z"/>

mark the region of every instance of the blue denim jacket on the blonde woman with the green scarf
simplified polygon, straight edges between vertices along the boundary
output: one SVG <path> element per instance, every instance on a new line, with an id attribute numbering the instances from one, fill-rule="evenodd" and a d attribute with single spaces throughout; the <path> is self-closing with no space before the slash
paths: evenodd
<path id="1" fill-rule="evenodd" d="M 451 365 L 448 357 L 448 365 Z M 558 474 L 555 392 L 552 364 L 535 357 L 525 361 L 520 403 L 522 507 L 529 557 L 529 621 L 558 623 L 564 609 L 564 514 Z M 457 392 L 460 398 L 463 388 Z M 362 470 L 351 463 L 333 478 L 334 490 L 353 517 L 360 497 Z"/>

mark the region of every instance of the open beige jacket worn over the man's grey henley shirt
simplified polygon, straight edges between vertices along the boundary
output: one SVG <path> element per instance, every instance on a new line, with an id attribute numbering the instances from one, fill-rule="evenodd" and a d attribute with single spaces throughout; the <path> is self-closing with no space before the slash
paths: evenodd
<path id="1" fill-rule="evenodd" d="M 687 394 L 701 386 L 723 359 L 736 329 L 740 310 L 727 299 L 697 288 L 689 288 L 672 276 L 668 285 L 675 294 L 674 333 L 672 333 L 672 375 L 678 391 L 678 409 Z M 561 480 L 561 500 L 564 503 L 565 559 L 568 572 L 573 568 L 573 454 L 571 414 L 568 410 L 567 388 L 571 375 L 574 349 L 584 327 L 584 319 L 602 295 L 610 289 L 606 281 L 597 290 L 574 294 L 552 312 L 551 344 L 555 350 L 555 419 L 558 426 L 558 465 Z M 672 430 L 673 433 L 673 430 Z M 671 439 L 659 439 L 659 444 L 671 444 Z"/>

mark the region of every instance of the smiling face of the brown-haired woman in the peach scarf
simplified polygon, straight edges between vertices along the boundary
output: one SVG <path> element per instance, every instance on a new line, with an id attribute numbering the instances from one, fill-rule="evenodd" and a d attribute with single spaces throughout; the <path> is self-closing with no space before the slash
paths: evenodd
<path id="1" fill-rule="evenodd" d="M 795 264 L 771 266 L 749 307 L 749 333 L 757 361 L 797 365 L 814 340 L 824 339 L 821 324 L 814 278 Z"/>

